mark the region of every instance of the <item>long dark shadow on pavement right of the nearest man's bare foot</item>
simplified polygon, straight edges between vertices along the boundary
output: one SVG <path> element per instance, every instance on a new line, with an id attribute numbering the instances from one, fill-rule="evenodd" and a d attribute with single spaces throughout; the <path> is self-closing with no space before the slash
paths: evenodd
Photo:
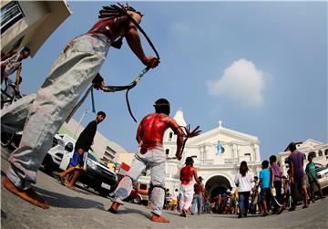
<path id="1" fill-rule="evenodd" d="M 46 202 L 52 207 L 60 208 L 97 208 L 104 209 L 104 204 L 87 200 L 77 196 L 68 196 L 60 193 L 53 193 L 38 187 L 34 187 L 37 193 L 46 198 Z"/>

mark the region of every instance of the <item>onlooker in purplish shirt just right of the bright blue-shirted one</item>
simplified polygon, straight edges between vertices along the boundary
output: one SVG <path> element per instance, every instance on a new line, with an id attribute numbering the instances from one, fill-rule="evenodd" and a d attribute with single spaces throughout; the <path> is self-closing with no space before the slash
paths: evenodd
<path id="1" fill-rule="evenodd" d="M 282 171 L 277 164 L 277 157 L 272 155 L 270 157 L 270 171 L 271 171 L 271 186 L 276 190 L 276 201 L 282 204 Z M 279 211 L 279 205 L 274 201 L 274 207 L 272 213 L 281 213 Z"/>

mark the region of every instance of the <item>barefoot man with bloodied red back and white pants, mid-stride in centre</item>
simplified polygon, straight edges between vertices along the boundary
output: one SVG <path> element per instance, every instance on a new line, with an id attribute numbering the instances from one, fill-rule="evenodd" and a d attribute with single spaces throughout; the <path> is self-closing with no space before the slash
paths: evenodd
<path id="1" fill-rule="evenodd" d="M 159 223 L 169 223 L 168 219 L 161 216 L 165 194 L 165 159 L 163 150 L 163 135 L 168 128 L 178 136 L 176 157 L 181 160 L 181 148 L 183 144 L 183 131 L 178 123 L 169 117 L 169 101 L 158 99 L 155 102 L 155 113 L 144 117 L 137 130 L 138 151 L 132 161 L 131 168 L 126 177 L 118 183 L 114 193 L 113 203 L 108 209 L 110 213 L 118 213 L 118 206 L 122 200 L 128 197 L 132 189 L 132 182 L 138 181 L 140 174 L 150 168 L 153 190 L 151 192 L 152 216 L 151 220 Z"/>

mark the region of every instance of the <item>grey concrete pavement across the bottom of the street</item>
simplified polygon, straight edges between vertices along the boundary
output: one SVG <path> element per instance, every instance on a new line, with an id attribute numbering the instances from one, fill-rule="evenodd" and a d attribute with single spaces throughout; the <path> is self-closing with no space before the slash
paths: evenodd
<path id="1" fill-rule="evenodd" d="M 9 166 L 9 150 L 1 150 L 1 177 Z M 46 197 L 50 208 L 43 210 L 26 203 L 1 184 L 2 228 L 327 228 L 328 198 L 298 206 L 296 211 L 261 217 L 250 215 L 238 219 L 236 215 L 205 214 L 179 217 L 178 212 L 164 211 L 169 224 L 153 223 L 150 211 L 143 205 L 125 203 L 117 215 L 108 213 L 111 202 L 82 189 L 72 191 L 55 178 L 38 172 L 37 193 Z"/>

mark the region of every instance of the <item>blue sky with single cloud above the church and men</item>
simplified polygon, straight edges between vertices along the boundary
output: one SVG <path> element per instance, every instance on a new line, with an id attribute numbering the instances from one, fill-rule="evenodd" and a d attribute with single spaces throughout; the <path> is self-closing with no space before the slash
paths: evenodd
<path id="1" fill-rule="evenodd" d="M 113 2 L 115 3 L 115 2 Z M 24 63 L 21 90 L 34 93 L 67 42 L 97 21 L 108 2 L 69 2 L 73 15 Z M 182 108 L 187 123 L 223 126 L 258 136 L 261 159 L 291 141 L 327 142 L 326 2 L 132 2 L 145 16 L 141 26 L 159 51 L 129 93 L 140 120 L 156 99 L 167 98 L 171 115 Z M 146 40 L 143 47 L 153 56 Z M 111 48 L 100 70 L 107 85 L 128 84 L 144 68 L 124 42 Z M 135 151 L 138 125 L 129 117 L 124 92 L 95 93 L 98 126 L 108 139 Z M 79 120 L 90 99 L 77 111 Z M 86 125 L 94 119 L 89 112 Z"/>

